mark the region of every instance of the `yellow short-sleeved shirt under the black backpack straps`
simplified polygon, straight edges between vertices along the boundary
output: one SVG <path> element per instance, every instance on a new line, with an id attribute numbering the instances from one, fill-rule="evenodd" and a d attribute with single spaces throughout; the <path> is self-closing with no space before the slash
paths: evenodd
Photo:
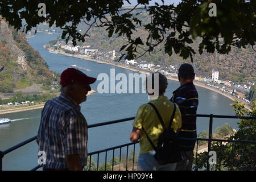
<path id="1" fill-rule="evenodd" d="M 169 126 L 172 113 L 174 111 L 174 103 L 172 103 L 166 96 L 159 96 L 156 100 L 150 101 L 158 109 L 164 124 L 166 127 Z M 133 126 L 138 129 L 142 129 L 142 126 L 152 142 L 157 146 L 158 138 L 161 133 L 163 133 L 163 126 L 161 125 L 158 115 L 156 114 L 154 108 L 149 104 L 143 104 L 139 107 L 136 117 L 133 122 Z M 179 107 L 176 105 L 176 112 L 174 121 L 171 126 L 176 132 L 177 129 L 181 128 L 181 114 Z M 140 154 L 146 154 L 154 148 L 151 146 L 150 142 L 146 137 L 146 134 L 141 130 L 141 140 L 139 142 L 141 147 Z"/>

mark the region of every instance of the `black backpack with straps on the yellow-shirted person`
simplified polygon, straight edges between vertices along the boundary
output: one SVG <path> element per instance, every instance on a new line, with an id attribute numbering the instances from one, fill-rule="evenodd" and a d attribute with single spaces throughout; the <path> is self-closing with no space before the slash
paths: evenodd
<path id="1" fill-rule="evenodd" d="M 163 133 L 159 135 L 158 146 L 155 146 L 152 140 L 148 137 L 144 128 L 142 127 L 148 141 L 150 142 L 151 146 L 154 148 L 156 152 L 154 155 L 155 160 L 159 163 L 160 166 L 184 160 L 186 158 L 185 152 L 179 149 L 177 142 L 177 134 L 175 133 L 174 129 L 171 128 L 172 121 L 176 113 L 176 105 L 174 104 L 174 111 L 172 113 L 169 126 L 168 128 L 166 128 L 163 119 L 159 114 L 159 111 L 156 109 L 155 105 L 150 102 L 148 102 L 148 104 L 150 104 L 154 108 L 156 114 L 158 115 L 160 123 L 162 124 L 164 129 Z"/>

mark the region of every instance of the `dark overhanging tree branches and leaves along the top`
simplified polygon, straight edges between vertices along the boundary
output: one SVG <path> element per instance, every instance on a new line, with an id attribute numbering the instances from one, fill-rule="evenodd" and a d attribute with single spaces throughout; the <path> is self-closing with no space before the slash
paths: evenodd
<path id="1" fill-rule="evenodd" d="M 204 50 L 228 53 L 230 46 L 246 48 L 247 44 L 254 46 L 256 41 L 256 2 L 253 0 L 181 0 L 177 6 L 162 3 L 148 6 L 150 0 L 143 0 L 133 8 L 123 7 L 128 0 L 41 2 L 47 7 L 46 17 L 38 16 L 37 1 L 3 1 L 0 14 L 15 28 L 22 28 L 22 19 L 25 19 L 26 31 L 43 22 L 50 27 L 55 24 L 64 30 L 61 38 L 72 39 L 74 45 L 85 42 L 85 36 L 90 36 L 87 30 L 93 26 L 105 27 L 109 37 L 127 39 L 127 44 L 120 48 L 121 51 L 125 49 L 127 59 L 139 57 L 137 53 L 142 50 L 152 52 L 163 43 L 164 52 L 169 56 L 175 52 L 183 59 L 190 57 L 192 60 L 195 50 L 189 44 L 197 37 L 202 39 L 198 46 L 200 53 Z M 217 16 L 208 14 L 211 2 L 216 3 Z M 138 16 L 142 11 L 151 17 L 150 23 L 143 24 L 144 15 Z M 86 31 L 79 32 L 80 22 L 88 25 Z M 145 40 L 134 36 L 141 26 L 147 30 Z"/>

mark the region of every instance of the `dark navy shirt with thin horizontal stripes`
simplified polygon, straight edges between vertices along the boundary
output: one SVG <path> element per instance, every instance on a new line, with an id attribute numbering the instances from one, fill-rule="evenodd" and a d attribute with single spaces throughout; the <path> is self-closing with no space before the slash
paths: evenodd
<path id="1" fill-rule="evenodd" d="M 196 143 L 196 111 L 198 106 L 198 93 L 193 82 L 181 85 L 173 92 L 171 98 L 179 108 L 182 126 L 178 134 L 181 150 L 192 151 Z"/>

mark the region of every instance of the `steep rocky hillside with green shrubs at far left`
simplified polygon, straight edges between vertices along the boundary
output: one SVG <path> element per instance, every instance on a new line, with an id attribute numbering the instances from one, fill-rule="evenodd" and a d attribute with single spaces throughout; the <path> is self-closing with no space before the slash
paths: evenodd
<path id="1" fill-rule="evenodd" d="M 5 20 L 0 22 L 0 92 L 13 92 L 14 89 L 31 85 L 47 86 L 55 81 L 55 74 L 28 43 L 21 32 L 9 27 Z"/>

